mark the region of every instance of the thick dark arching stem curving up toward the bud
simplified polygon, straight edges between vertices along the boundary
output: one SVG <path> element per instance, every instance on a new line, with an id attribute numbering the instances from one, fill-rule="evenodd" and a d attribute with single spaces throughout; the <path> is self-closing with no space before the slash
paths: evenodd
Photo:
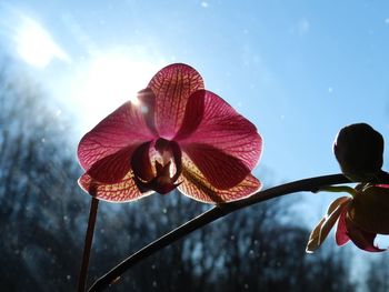
<path id="1" fill-rule="evenodd" d="M 129 270 L 134 264 L 139 263 L 140 261 L 144 260 L 146 258 L 150 256 L 157 251 L 178 241 L 179 239 L 182 239 L 183 236 L 188 235 L 194 230 L 198 230 L 207 225 L 208 223 L 213 222 L 215 220 L 222 218 L 233 211 L 243 209 L 246 207 L 249 207 L 262 201 L 278 198 L 285 194 L 302 192 L 302 191 L 316 192 L 328 185 L 348 183 L 348 182 L 350 182 L 350 180 L 348 180 L 342 174 L 316 177 L 316 178 L 289 182 L 286 184 L 280 184 L 275 188 L 259 191 L 247 199 L 216 205 L 209 211 L 206 211 L 199 217 L 183 223 L 182 225 L 178 226 L 177 229 L 164 234 L 163 236 L 151 242 L 150 244 L 146 245 L 144 248 L 140 249 L 139 251 L 137 251 L 136 253 L 127 258 L 124 261 L 119 263 L 107 274 L 98 279 L 88 291 L 98 292 L 98 291 L 104 290 L 111 283 L 116 282 L 121 274 L 123 274 L 127 270 Z"/>

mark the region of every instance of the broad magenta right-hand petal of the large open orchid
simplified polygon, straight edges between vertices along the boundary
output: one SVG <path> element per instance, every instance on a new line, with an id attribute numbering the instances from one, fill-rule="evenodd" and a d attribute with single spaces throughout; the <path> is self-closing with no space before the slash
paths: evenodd
<path id="1" fill-rule="evenodd" d="M 201 120 L 191 111 L 202 112 Z M 186 119 L 174 140 L 205 178 L 221 190 L 240 183 L 257 164 L 262 149 L 256 127 L 206 90 L 190 97 Z"/>

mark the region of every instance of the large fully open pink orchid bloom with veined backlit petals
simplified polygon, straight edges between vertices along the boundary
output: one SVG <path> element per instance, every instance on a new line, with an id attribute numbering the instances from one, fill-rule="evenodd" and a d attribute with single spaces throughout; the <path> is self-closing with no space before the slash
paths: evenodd
<path id="1" fill-rule="evenodd" d="M 261 149 L 256 127 L 205 90 L 193 68 L 176 63 L 81 139 L 79 184 L 112 202 L 176 188 L 201 202 L 228 202 L 260 189 L 251 170 Z"/>

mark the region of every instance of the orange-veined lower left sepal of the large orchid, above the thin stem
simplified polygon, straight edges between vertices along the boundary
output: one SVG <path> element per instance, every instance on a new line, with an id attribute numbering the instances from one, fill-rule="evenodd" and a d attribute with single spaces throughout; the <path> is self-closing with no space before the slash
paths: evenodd
<path id="1" fill-rule="evenodd" d="M 113 184 L 96 182 L 86 173 L 79 179 L 79 185 L 90 195 L 109 202 L 129 202 L 153 193 L 152 191 L 140 192 L 131 172 L 128 172 L 121 181 Z"/>

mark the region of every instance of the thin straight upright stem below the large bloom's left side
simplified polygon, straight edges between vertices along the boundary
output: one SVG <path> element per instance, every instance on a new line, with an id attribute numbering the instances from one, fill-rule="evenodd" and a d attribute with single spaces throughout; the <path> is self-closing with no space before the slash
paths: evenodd
<path id="1" fill-rule="evenodd" d="M 84 292 L 87 286 L 89 258 L 90 258 L 90 250 L 92 246 L 98 207 L 99 207 L 99 200 L 92 197 L 92 200 L 90 202 L 88 229 L 87 229 L 87 234 L 86 234 L 86 240 L 83 245 L 81 270 L 80 270 L 80 275 L 78 280 L 78 290 L 77 290 L 78 292 Z"/>

